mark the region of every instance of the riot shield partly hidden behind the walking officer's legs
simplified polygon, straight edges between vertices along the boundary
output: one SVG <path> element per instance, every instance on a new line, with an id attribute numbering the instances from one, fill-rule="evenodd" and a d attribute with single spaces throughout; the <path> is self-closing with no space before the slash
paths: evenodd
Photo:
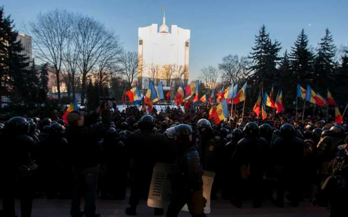
<path id="1" fill-rule="evenodd" d="M 203 197 L 206 199 L 206 205 L 204 207 L 204 213 L 209 214 L 210 213 L 210 193 L 211 188 L 213 186 L 215 177 L 215 172 L 210 171 L 203 171 Z M 181 209 L 181 211 L 188 212 L 187 204 Z"/>

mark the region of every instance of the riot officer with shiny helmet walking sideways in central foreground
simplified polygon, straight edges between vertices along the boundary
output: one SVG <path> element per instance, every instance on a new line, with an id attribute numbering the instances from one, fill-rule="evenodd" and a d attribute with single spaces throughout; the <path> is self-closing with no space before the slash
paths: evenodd
<path id="1" fill-rule="evenodd" d="M 174 139 L 178 155 L 172 182 L 173 196 L 167 217 L 177 217 L 185 204 L 192 217 L 204 217 L 202 166 L 198 150 L 192 141 L 192 129 L 189 125 L 179 124 L 167 129 L 165 134 Z"/>

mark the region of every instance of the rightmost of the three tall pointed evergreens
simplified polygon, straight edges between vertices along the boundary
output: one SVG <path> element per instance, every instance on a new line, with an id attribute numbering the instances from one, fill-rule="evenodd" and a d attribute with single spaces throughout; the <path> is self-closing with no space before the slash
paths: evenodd
<path id="1" fill-rule="evenodd" d="M 334 77 L 334 56 L 336 46 L 329 29 L 325 30 L 325 36 L 319 43 L 317 55 L 315 57 L 315 85 L 319 90 L 325 90 L 332 86 Z"/>

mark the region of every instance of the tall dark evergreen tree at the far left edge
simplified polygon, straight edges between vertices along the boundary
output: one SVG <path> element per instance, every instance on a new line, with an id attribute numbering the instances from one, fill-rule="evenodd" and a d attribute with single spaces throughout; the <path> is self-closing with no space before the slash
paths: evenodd
<path id="1" fill-rule="evenodd" d="M 4 17 L 3 7 L 0 8 L 0 27 L 1 95 L 10 96 L 13 103 L 28 102 L 29 59 L 21 54 L 23 48 L 17 40 L 18 32 L 10 16 Z"/>

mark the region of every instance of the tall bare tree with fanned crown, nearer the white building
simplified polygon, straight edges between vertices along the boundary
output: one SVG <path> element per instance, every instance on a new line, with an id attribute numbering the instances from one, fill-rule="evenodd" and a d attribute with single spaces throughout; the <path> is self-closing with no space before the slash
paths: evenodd
<path id="1" fill-rule="evenodd" d="M 104 57 L 105 50 L 114 46 L 117 38 L 113 32 L 93 18 L 76 16 L 75 43 L 79 51 L 78 67 L 81 73 L 81 104 L 84 104 L 87 89 L 87 76 L 93 67 Z"/>

